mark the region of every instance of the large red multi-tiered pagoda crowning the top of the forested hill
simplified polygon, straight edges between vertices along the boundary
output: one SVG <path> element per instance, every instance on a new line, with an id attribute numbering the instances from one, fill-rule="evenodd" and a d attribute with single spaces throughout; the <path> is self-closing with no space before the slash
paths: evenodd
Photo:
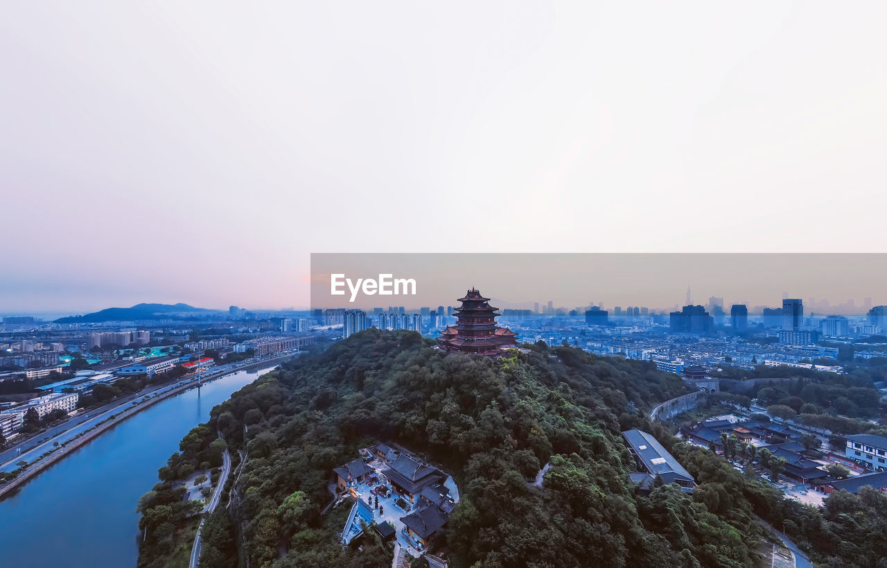
<path id="1" fill-rule="evenodd" d="M 498 357 L 506 349 L 517 347 L 517 334 L 496 325 L 498 308 L 490 305 L 490 298 L 471 288 L 459 302 L 462 306 L 453 312 L 456 325 L 447 326 L 437 339 L 440 349 Z"/>

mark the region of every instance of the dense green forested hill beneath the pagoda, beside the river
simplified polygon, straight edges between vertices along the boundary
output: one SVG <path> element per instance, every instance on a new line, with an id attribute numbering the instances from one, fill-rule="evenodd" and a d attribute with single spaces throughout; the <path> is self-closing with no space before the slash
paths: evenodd
<path id="1" fill-rule="evenodd" d="M 628 478 L 634 463 L 620 431 L 644 428 L 671 446 L 644 411 L 686 391 L 648 363 L 569 347 L 491 360 L 444 355 L 412 332 L 352 335 L 213 410 L 204 434 L 218 428 L 239 446 L 246 425 L 248 459 L 232 490 L 233 522 L 211 517 L 200 565 L 236 565 L 239 555 L 255 567 L 389 566 L 378 540 L 342 550 L 341 521 L 320 515 L 331 470 L 374 440 L 456 478 L 461 501 L 432 542 L 455 567 L 756 565 L 746 482 L 725 461 L 674 445 L 700 483 L 692 496 L 663 485 L 641 497 Z M 176 477 L 183 463 L 192 469 L 189 459 L 174 455 L 161 477 Z M 524 477 L 547 461 L 544 488 L 528 486 Z M 163 565 L 147 510 L 140 565 Z"/>

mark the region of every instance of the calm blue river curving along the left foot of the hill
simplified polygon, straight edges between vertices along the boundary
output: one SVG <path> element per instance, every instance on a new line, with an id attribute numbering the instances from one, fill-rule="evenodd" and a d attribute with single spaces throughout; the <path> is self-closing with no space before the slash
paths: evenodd
<path id="1" fill-rule="evenodd" d="M 138 498 L 213 406 L 271 368 L 239 371 L 145 408 L 0 501 L 0 565 L 135 566 Z"/>

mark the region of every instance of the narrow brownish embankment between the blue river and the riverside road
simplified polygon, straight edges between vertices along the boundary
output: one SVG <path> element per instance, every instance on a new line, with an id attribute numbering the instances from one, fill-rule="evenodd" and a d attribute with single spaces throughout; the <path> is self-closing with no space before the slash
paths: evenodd
<path id="1" fill-rule="evenodd" d="M 142 410 L 145 410 L 145 408 L 161 402 L 161 400 L 165 400 L 166 398 L 181 394 L 187 390 L 195 389 L 200 385 L 216 381 L 223 378 L 224 376 L 239 373 L 240 371 L 248 371 L 250 369 L 258 367 L 269 367 L 271 365 L 278 365 L 280 362 L 287 359 L 292 359 L 294 357 L 297 357 L 298 355 L 299 353 L 288 353 L 287 355 L 281 357 L 264 359 L 262 361 L 247 363 L 245 365 L 234 367 L 232 369 L 225 369 L 224 372 L 216 374 L 210 373 L 208 375 L 201 376 L 200 383 L 198 383 L 198 380 L 195 377 L 188 383 L 184 383 L 183 385 L 178 386 L 174 389 L 157 393 L 153 397 L 146 395 L 148 396 L 148 398 L 137 399 L 137 401 L 135 402 L 124 403 L 123 405 L 121 405 L 120 413 L 112 414 L 111 416 L 106 418 L 106 420 L 99 422 L 96 426 L 90 428 L 90 430 L 86 430 L 85 432 L 78 434 L 75 438 L 59 444 L 59 446 L 49 450 L 45 454 L 41 454 L 35 461 L 28 463 L 27 468 L 24 471 L 21 471 L 17 477 L 10 479 L 4 485 L 0 485 L 0 499 L 3 499 L 7 493 L 11 493 L 13 490 L 19 488 L 21 485 L 27 484 L 27 481 L 29 479 L 35 477 L 38 473 L 43 471 L 43 469 L 46 469 L 57 461 L 64 459 L 68 454 L 73 453 L 75 450 L 85 445 L 87 442 L 98 438 L 98 436 L 103 434 L 106 430 L 109 430 L 114 426 L 120 424 L 121 422 L 124 422 L 133 415 L 141 412 Z M 123 407 L 127 405 L 129 405 L 129 407 Z"/>

